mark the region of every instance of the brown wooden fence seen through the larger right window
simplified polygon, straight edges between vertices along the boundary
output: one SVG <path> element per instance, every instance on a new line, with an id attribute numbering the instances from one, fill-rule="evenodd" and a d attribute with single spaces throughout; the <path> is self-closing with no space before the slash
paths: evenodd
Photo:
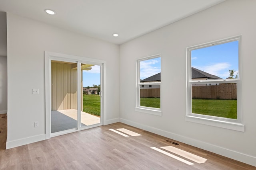
<path id="1" fill-rule="evenodd" d="M 236 84 L 192 86 L 192 99 L 236 99 Z"/>

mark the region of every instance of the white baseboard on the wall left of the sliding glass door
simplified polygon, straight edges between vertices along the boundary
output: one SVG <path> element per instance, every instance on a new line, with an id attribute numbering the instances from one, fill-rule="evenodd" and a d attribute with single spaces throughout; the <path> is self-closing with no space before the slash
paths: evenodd
<path id="1" fill-rule="evenodd" d="M 6 142 L 6 149 L 11 149 L 11 148 L 15 148 L 15 147 L 19 147 L 22 145 L 27 145 L 27 144 L 34 143 L 34 142 L 43 141 L 43 140 L 46 140 L 45 134 L 27 137 L 27 138 L 15 140 L 15 141 L 8 141 L 8 142 Z"/>

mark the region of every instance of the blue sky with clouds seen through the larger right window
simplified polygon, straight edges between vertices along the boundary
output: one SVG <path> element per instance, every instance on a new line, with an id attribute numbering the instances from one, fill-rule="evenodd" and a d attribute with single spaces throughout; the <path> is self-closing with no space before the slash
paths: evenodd
<path id="1" fill-rule="evenodd" d="M 228 70 L 238 70 L 238 41 L 191 51 L 191 66 L 220 78 L 228 78 Z"/>

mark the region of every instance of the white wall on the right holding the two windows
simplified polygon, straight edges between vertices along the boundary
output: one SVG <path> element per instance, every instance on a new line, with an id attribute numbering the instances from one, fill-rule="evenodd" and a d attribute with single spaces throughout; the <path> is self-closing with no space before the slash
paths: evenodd
<path id="1" fill-rule="evenodd" d="M 120 45 L 120 121 L 256 166 L 255 6 L 228 0 Z M 186 47 L 235 35 L 242 35 L 245 132 L 185 121 Z M 136 112 L 136 59 L 159 53 L 162 116 Z"/>

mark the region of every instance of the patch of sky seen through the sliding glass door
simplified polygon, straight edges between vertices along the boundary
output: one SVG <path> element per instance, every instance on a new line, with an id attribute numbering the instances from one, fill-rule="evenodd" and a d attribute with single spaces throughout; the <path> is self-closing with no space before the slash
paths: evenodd
<path id="1" fill-rule="evenodd" d="M 94 65 L 91 67 L 91 70 L 83 70 L 83 87 L 100 84 L 100 66 Z"/>

